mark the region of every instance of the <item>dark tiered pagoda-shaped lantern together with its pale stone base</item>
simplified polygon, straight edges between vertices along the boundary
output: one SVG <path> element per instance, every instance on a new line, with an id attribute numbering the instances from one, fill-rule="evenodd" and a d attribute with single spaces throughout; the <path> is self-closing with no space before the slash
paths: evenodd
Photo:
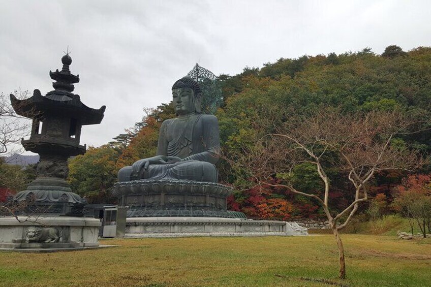
<path id="1" fill-rule="evenodd" d="M 70 156 L 85 153 L 79 144 L 81 127 L 99 124 L 105 106 L 91 109 L 72 93 L 79 76 L 71 74 L 71 57 L 61 58 L 61 71 L 50 72 L 54 90 L 42 96 L 18 100 L 11 94 L 17 114 L 33 120 L 25 150 L 38 153 L 37 178 L 9 203 L 16 217 L 0 218 L 0 248 L 28 249 L 85 248 L 99 246 L 100 221 L 84 217 L 86 200 L 72 192 L 66 181 Z M 19 208 L 17 208 L 19 207 Z"/>

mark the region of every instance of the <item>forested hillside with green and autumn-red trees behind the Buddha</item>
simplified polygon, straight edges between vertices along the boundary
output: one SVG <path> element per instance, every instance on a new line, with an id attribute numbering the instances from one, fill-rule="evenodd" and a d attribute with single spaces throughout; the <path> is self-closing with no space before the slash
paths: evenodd
<path id="1" fill-rule="evenodd" d="M 421 131 L 406 133 L 392 140 L 393 145 L 415 148 L 423 154 L 431 151 L 428 111 L 431 110 L 431 48 L 419 47 L 405 52 L 388 46 L 381 55 L 365 48 L 359 52 L 281 58 L 262 68 L 244 68 L 241 74 L 220 75 L 222 100 L 215 112 L 219 118 L 223 157 L 219 163 L 220 182 L 234 187 L 230 209 L 251 218 L 288 219 L 316 217 L 321 214 L 310 198 L 278 188 L 262 188 L 250 177 L 247 167 L 232 164 L 235 158 L 253 150 L 257 139 L 274 133 L 278 127 L 298 117 L 334 107 L 343 115 L 372 111 L 400 111 L 425 122 Z M 117 171 L 140 158 L 156 153 L 160 124 L 174 117 L 169 103 L 157 109 L 144 109 L 142 121 L 127 129 L 112 142 L 90 147 L 83 156 L 70 161 L 69 181 L 74 192 L 90 201 L 115 201 L 109 189 Z M 426 124 L 428 126 L 426 126 Z M 425 165 L 417 173 L 430 172 Z M 334 209 L 351 200 L 350 187 L 340 171 L 330 169 L 335 192 Z M 394 186 L 401 184 L 407 171 L 380 172 L 370 186 L 370 195 L 390 212 Z M 322 185 L 315 169 L 304 163 L 295 167 L 291 179 L 305 192 L 315 192 Z M 373 202 L 373 200 L 371 201 Z M 375 201 L 374 201 L 375 202 Z M 366 211 L 368 204 L 361 206 Z M 364 213 L 365 214 L 365 213 Z"/>

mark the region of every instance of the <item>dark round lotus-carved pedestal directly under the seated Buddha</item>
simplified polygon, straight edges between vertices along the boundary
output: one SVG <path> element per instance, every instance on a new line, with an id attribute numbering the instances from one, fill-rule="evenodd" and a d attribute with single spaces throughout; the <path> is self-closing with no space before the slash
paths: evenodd
<path id="1" fill-rule="evenodd" d="M 127 217 L 234 217 L 226 207 L 232 188 L 214 182 L 133 180 L 115 183 L 112 194 L 130 207 Z"/>

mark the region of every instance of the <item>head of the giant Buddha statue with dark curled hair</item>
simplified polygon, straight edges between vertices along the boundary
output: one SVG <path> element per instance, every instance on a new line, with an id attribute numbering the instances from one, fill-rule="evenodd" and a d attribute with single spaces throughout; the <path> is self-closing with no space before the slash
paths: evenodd
<path id="1" fill-rule="evenodd" d="M 179 79 L 172 86 L 172 103 L 178 115 L 201 113 L 201 87 L 190 77 Z"/>

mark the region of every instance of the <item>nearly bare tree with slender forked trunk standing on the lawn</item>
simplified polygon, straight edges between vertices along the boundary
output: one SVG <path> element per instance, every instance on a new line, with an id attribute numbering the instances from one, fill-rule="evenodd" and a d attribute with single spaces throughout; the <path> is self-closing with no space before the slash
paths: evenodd
<path id="1" fill-rule="evenodd" d="M 244 148 L 233 166 L 248 170 L 262 186 L 282 187 L 292 193 L 315 199 L 323 208 L 339 250 L 339 277 L 346 277 L 343 242 L 339 231 L 345 228 L 361 202 L 368 198 L 370 180 L 382 170 L 414 170 L 423 165 L 420 154 L 396 139 L 420 126 L 420 120 L 399 112 L 371 112 L 343 115 L 336 109 L 323 109 L 309 116 L 289 119 L 278 133 L 261 138 Z M 291 179 L 295 166 L 309 163 L 316 167 L 322 188 L 314 194 L 299 190 Z M 336 169 L 351 183 L 352 201 L 344 210 L 331 208 L 333 189 L 328 169 Z M 282 179 L 274 184 L 273 179 Z"/>

